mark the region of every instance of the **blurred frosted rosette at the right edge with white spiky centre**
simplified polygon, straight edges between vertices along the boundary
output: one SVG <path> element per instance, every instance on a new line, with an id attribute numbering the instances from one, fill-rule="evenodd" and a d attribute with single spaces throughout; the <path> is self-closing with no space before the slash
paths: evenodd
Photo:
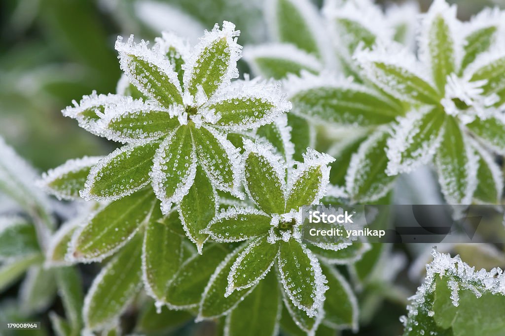
<path id="1" fill-rule="evenodd" d="M 396 45 L 358 52 L 363 74 L 411 106 L 387 140 L 387 174 L 434 161 L 445 199 L 496 203 L 502 177 L 488 151 L 503 153 L 505 123 L 498 48 L 503 13 L 484 10 L 468 23 L 456 6 L 433 3 L 422 19 L 419 59 Z M 475 139 L 475 141 L 474 141 Z"/>

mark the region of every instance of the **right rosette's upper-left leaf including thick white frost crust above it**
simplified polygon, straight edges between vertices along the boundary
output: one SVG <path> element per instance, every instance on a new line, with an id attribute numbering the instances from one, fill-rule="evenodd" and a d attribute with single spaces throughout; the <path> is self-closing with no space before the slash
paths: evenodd
<path id="1" fill-rule="evenodd" d="M 441 95 L 430 84 L 426 70 L 409 51 L 395 48 L 362 51 L 356 59 L 364 75 L 396 99 L 432 105 L 440 101 Z"/>

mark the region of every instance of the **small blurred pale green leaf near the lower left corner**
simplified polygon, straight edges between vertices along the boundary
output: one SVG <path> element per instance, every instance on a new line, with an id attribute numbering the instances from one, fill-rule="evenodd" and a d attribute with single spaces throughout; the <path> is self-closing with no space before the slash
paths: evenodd
<path id="1" fill-rule="evenodd" d="M 21 283 L 21 309 L 26 314 L 44 311 L 53 302 L 56 295 L 55 274 L 40 265 L 32 266 Z"/>

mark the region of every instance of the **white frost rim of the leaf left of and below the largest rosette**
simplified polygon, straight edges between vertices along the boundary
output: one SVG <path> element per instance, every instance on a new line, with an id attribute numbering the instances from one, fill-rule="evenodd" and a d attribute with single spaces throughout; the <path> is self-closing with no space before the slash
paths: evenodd
<path id="1" fill-rule="evenodd" d="M 86 167 L 94 166 L 98 163 L 99 160 L 103 158 L 103 156 L 84 156 L 80 159 L 70 159 L 61 166 L 58 166 L 54 169 L 49 169 L 46 173 L 42 173 L 42 177 L 35 182 L 35 185 L 42 188 L 46 193 L 56 196 L 60 200 L 78 199 L 76 197 L 70 197 L 64 193 L 61 193 L 49 187 L 48 184 L 54 182 L 62 175 L 73 173 Z"/>

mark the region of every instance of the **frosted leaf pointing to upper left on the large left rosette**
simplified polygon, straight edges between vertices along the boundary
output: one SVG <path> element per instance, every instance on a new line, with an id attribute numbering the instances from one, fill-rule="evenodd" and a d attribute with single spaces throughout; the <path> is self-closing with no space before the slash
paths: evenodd
<path id="1" fill-rule="evenodd" d="M 182 94 L 177 73 L 159 47 L 147 48 L 145 41 L 133 42 L 133 35 L 126 43 L 118 36 L 115 45 L 119 63 L 130 82 L 144 95 L 169 108 L 182 104 Z"/>

